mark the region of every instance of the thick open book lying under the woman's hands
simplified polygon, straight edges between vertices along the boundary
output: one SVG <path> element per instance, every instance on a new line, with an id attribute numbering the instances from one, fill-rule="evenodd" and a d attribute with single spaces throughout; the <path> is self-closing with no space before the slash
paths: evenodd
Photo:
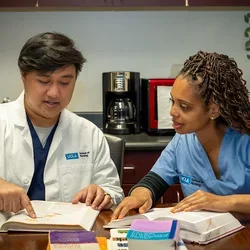
<path id="1" fill-rule="evenodd" d="M 170 208 L 153 208 L 145 214 L 126 216 L 113 220 L 105 228 L 121 228 L 130 226 L 134 219 L 179 220 L 180 237 L 184 241 L 207 244 L 244 228 L 230 213 L 209 211 L 172 213 Z"/>

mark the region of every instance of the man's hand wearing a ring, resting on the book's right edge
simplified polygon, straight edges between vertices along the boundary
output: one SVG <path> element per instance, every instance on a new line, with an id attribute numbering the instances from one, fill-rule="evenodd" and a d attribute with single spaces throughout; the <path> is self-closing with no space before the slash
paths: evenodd
<path id="1" fill-rule="evenodd" d="M 109 194 L 96 184 L 91 184 L 81 191 L 76 193 L 72 203 L 76 204 L 78 202 L 85 202 L 87 206 L 93 209 L 102 210 L 109 209 L 113 205 L 113 201 Z"/>

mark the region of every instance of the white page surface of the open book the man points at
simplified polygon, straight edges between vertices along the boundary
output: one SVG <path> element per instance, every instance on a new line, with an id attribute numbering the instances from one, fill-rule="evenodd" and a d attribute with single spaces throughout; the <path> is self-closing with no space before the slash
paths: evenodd
<path id="1" fill-rule="evenodd" d="M 71 204 L 64 202 L 50 201 L 31 201 L 37 217 L 31 218 L 25 210 L 13 215 L 5 224 L 15 222 L 30 225 L 80 225 L 82 218 L 95 222 L 99 213 L 91 207 L 87 207 L 84 203 Z M 86 213 L 92 210 L 93 216 L 85 216 Z M 85 228 L 87 229 L 87 228 Z M 89 229 L 87 229 L 89 230 Z"/>

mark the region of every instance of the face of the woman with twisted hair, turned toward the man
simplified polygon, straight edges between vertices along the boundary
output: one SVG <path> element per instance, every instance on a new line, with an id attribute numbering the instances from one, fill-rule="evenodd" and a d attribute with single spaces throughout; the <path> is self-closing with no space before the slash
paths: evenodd
<path id="1" fill-rule="evenodd" d="M 195 92 L 195 86 L 195 83 L 180 75 L 172 87 L 170 115 L 173 128 L 179 134 L 197 133 L 211 126 L 212 110 L 205 109 L 205 104 Z"/>

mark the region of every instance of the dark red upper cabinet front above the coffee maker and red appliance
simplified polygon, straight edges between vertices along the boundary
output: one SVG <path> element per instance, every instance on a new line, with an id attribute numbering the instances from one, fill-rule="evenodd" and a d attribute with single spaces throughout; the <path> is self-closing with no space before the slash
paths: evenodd
<path id="1" fill-rule="evenodd" d="M 115 6 L 185 6 L 185 0 L 113 0 Z"/>

